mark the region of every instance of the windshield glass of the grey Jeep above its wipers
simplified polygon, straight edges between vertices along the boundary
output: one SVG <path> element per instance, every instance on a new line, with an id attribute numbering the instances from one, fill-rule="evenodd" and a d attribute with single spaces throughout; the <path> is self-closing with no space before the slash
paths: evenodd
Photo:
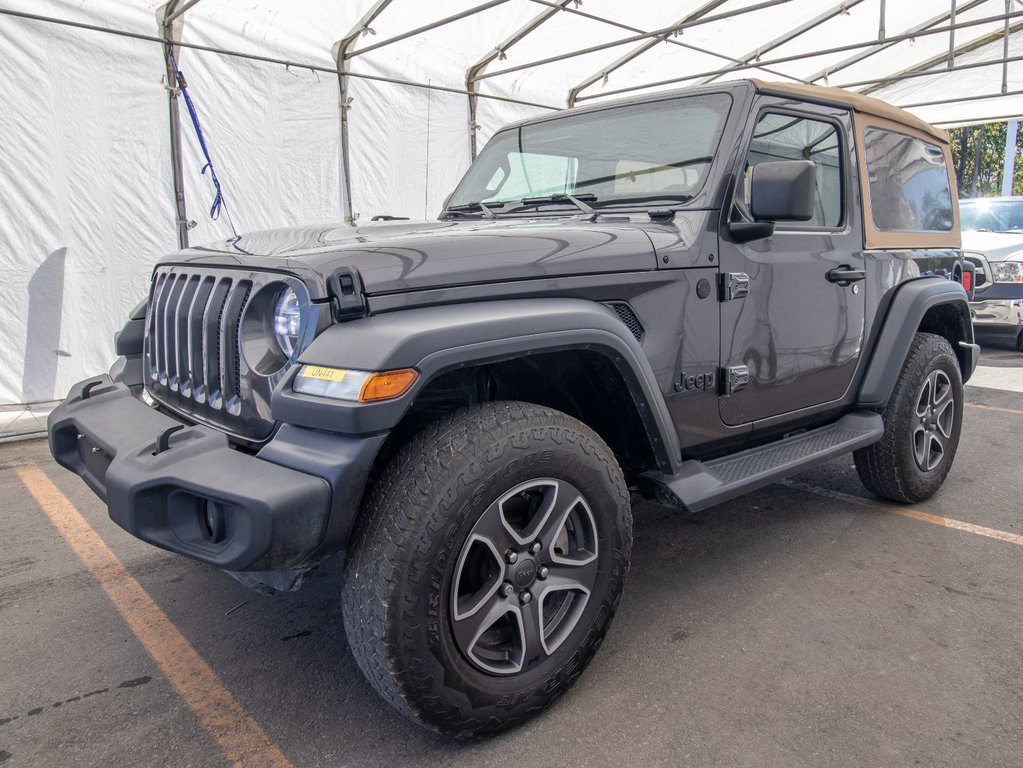
<path id="1" fill-rule="evenodd" d="M 703 186 L 730 104 L 727 94 L 711 93 L 501 131 L 448 208 L 483 202 L 499 213 L 513 210 L 507 204 L 564 194 L 584 195 L 597 207 L 684 201 Z"/>

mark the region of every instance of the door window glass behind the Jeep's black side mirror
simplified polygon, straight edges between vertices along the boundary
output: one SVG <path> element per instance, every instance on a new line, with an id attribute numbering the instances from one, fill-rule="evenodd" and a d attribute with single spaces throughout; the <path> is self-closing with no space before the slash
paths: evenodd
<path id="1" fill-rule="evenodd" d="M 816 164 L 813 218 L 780 222 L 780 229 L 822 229 L 842 226 L 842 151 L 838 128 L 824 120 L 767 112 L 757 121 L 746 155 L 743 201 L 750 204 L 750 177 L 761 163 L 810 160 Z"/>

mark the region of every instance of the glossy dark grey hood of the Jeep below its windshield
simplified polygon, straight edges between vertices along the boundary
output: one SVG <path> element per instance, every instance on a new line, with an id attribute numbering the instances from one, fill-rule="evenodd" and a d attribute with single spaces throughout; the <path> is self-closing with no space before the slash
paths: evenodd
<path id="1" fill-rule="evenodd" d="M 190 249 L 168 261 L 282 269 L 320 278 L 352 267 L 369 296 L 657 269 L 650 236 L 625 217 L 295 227 Z"/>

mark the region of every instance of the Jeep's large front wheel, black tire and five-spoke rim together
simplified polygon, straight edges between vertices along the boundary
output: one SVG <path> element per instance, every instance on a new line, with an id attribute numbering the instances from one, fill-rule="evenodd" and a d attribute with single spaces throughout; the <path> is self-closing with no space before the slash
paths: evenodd
<path id="1" fill-rule="evenodd" d="M 564 413 L 456 411 L 385 469 L 345 570 L 349 642 L 427 727 L 479 736 L 542 711 L 610 626 L 631 546 L 622 471 Z"/>

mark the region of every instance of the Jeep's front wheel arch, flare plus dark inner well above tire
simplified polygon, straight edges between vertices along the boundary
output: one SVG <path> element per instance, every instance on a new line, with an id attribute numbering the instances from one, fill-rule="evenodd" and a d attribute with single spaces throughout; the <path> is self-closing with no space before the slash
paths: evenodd
<path id="1" fill-rule="evenodd" d="M 677 434 L 650 362 L 621 319 L 594 302 L 495 301 L 374 315 L 331 326 L 300 362 L 363 370 L 414 367 L 420 375 L 402 398 L 355 404 L 295 393 L 296 366 L 272 400 L 274 418 L 290 423 L 346 434 L 395 431 L 398 440 L 415 426 L 407 418 L 445 407 L 439 396 L 468 392 L 472 381 L 469 402 L 507 395 L 565 410 L 616 454 L 653 462 L 646 468 L 673 471 L 678 462 Z M 481 375 L 490 383 L 480 383 Z M 612 410 L 617 418 L 610 417 Z"/>

